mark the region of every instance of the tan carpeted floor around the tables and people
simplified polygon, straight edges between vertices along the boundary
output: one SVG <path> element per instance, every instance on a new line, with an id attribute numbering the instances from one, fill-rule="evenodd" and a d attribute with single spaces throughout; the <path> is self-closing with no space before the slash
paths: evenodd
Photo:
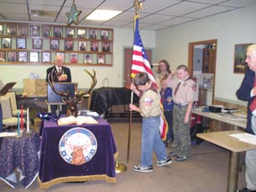
<path id="1" fill-rule="evenodd" d="M 114 123 L 117 122 L 117 123 Z M 117 174 L 116 183 L 108 183 L 105 180 L 92 180 L 84 183 L 62 183 L 44 191 L 69 192 L 69 191 L 95 191 L 95 192 L 224 192 L 227 190 L 228 180 L 228 150 L 219 148 L 209 142 L 192 145 L 192 158 L 187 162 L 176 162 L 165 167 L 154 166 L 154 172 L 133 172 L 132 166 L 140 164 L 140 134 L 141 123 L 136 120 L 132 123 L 132 137 L 129 162 L 127 163 L 128 120 L 123 122 L 109 120 L 115 136 L 119 156 L 117 160 L 127 167 L 126 172 Z M 34 127 L 38 131 L 38 127 Z M 166 148 L 169 153 L 171 147 Z M 156 162 L 156 156 L 153 156 Z M 244 187 L 244 168 L 239 172 L 238 188 Z M 0 180 L 0 191 L 14 191 Z M 15 188 L 21 191 L 42 191 L 35 181 L 28 189 L 20 184 Z"/>

